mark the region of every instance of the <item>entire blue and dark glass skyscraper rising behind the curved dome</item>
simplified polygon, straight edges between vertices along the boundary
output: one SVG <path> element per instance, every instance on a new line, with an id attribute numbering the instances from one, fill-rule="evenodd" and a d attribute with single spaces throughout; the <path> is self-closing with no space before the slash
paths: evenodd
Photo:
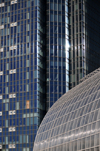
<path id="1" fill-rule="evenodd" d="M 0 0 L 0 150 L 32 151 L 47 110 L 99 66 L 99 20 L 98 0 Z"/>

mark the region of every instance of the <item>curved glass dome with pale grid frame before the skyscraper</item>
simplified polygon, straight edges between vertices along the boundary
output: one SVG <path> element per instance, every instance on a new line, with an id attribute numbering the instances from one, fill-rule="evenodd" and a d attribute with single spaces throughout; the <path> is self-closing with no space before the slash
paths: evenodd
<path id="1" fill-rule="evenodd" d="M 33 151 L 100 150 L 100 69 L 63 95 L 43 119 Z"/>

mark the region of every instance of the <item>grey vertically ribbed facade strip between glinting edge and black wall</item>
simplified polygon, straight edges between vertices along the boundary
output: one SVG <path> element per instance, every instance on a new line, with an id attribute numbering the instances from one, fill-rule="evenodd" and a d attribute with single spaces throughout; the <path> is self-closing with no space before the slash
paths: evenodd
<path id="1" fill-rule="evenodd" d="M 86 75 L 84 7 L 83 0 L 69 0 L 70 88 Z"/>

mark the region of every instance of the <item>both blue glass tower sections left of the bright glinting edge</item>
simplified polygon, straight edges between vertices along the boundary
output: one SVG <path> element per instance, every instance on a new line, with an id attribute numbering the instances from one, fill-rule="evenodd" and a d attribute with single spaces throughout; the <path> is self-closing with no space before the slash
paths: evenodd
<path id="1" fill-rule="evenodd" d="M 67 0 L 0 0 L 0 150 L 32 151 L 68 90 Z"/>

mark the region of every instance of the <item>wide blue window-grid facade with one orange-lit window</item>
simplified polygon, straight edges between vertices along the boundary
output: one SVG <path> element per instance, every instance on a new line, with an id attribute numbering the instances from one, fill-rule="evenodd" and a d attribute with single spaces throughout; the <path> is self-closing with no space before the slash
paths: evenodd
<path id="1" fill-rule="evenodd" d="M 0 150 L 32 151 L 45 114 L 43 0 L 0 0 Z"/>

